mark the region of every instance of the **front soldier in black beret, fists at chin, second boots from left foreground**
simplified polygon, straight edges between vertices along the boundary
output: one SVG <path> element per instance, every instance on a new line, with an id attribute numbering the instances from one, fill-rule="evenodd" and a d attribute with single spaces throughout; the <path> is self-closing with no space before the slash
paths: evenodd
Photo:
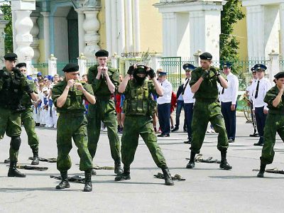
<path id="1" fill-rule="evenodd" d="M 56 189 L 61 190 L 70 187 L 67 170 L 71 168 L 69 153 L 72 148 L 73 138 L 80 157 L 80 170 L 84 171 L 85 175 L 84 192 L 91 192 L 91 170 L 93 167 L 92 158 L 87 147 L 87 119 L 84 116 L 86 109 L 83 99 L 87 99 L 90 104 L 94 104 L 96 100 L 91 85 L 79 82 L 78 70 L 78 65 L 67 64 L 62 70 L 65 72 L 65 80 L 58 82 L 53 87 L 52 99 L 60 114 L 57 126 L 57 167 L 62 177 L 62 181 L 56 186 Z"/>

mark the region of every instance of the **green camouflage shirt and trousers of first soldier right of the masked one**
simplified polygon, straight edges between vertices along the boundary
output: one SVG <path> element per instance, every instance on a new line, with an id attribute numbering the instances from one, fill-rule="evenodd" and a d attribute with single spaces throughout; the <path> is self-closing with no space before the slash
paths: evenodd
<path id="1" fill-rule="evenodd" d="M 221 113 L 220 104 L 217 101 L 217 82 L 220 83 L 220 81 L 214 74 L 215 71 L 217 71 L 216 67 L 209 67 L 209 76 L 202 81 L 200 88 L 195 92 L 196 101 L 193 107 L 192 143 L 190 147 L 194 153 L 200 153 L 209 121 L 213 125 L 214 130 L 219 133 L 218 150 L 226 151 L 229 146 L 224 118 Z M 203 72 L 202 67 L 197 67 L 192 71 L 190 87 L 202 77 Z"/>

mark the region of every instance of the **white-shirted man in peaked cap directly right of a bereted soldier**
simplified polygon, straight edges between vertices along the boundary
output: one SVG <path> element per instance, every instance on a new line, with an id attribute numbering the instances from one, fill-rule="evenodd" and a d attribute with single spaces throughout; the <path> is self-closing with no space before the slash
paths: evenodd
<path id="1" fill-rule="evenodd" d="M 224 62 L 223 72 L 228 81 L 228 87 L 222 88 L 220 94 L 221 111 L 224 116 L 228 142 L 233 143 L 236 136 L 236 99 L 238 97 L 239 80 L 231 73 L 231 63 Z"/>

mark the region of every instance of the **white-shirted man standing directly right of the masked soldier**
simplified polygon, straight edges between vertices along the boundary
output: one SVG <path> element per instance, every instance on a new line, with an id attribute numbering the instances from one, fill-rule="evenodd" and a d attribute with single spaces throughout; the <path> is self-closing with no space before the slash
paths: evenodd
<path id="1" fill-rule="evenodd" d="M 158 97 L 158 119 L 162 133 L 158 137 L 170 137 L 170 101 L 173 86 L 167 80 L 167 72 L 159 72 L 158 80 L 163 88 L 163 96 Z"/>

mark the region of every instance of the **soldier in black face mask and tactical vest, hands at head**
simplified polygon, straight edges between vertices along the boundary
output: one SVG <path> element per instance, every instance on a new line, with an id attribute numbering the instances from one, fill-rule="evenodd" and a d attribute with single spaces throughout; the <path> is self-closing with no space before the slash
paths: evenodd
<path id="1" fill-rule="evenodd" d="M 133 80 L 129 80 L 133 75 Z M 147 75 L 151 81 L 146 80 Z M 163 170 L 165 185 L 174 185 L 170 171 L 162 151 L 157 143 L 151 115 L 155 111 L 156 102 L 152 95 L 162 96 L 163 88 L 155 79 L 155 72 L 144 65 L 129 67 L 124 81 L 119 86 L 119 92 L 125 94 L 124 100 L 124 132 L 121 138 L 121 157 L 124 163 L 124 173 L 115 180 L 130 179 L 130 165 L 133 162 L 139 135 L 146 143 L 155 164 Z"/>

